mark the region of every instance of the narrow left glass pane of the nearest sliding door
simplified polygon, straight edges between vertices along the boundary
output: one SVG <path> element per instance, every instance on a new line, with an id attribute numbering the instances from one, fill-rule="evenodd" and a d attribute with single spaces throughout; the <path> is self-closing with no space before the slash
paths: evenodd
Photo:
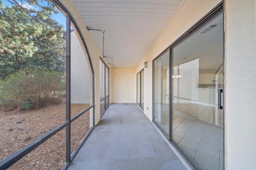
<path id="1" fill-rule="evenodd" d="M 169 51 L 154 61 L 154 122 L 169 137 Z"/>

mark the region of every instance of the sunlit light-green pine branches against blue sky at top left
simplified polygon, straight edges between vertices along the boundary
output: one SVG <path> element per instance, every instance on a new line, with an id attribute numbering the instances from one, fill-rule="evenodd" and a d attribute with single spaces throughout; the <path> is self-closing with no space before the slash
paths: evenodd
<path id="1" fill-rule="evenodd" d="M 33 55 L 37 51 L 32 37 L 54 39 L 58 32 L 45 23 L 58 9 L 48 0 L 7 0 L 12 4 L 7 7 L 0 0 L 0 52 L 10 55 L 20 52 Z"/>

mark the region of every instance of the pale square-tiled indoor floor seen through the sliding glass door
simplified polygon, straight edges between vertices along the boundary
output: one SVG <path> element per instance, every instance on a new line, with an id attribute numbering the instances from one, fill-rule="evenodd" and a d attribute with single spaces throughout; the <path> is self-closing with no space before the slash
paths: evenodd
<path id="1" fill-rule="evenodd" d="M 168 117 L 167 105 L 162 105 Z M 165 109 L 164 109 L 165 108 Z M 163 121 L 164 122 L 164 121 Z M 172 140 L 201 169 L 223 169 L 223 110 L 195 103 L 173 104 Z M 168 131 L 168 123 L 161 124 Z"/>

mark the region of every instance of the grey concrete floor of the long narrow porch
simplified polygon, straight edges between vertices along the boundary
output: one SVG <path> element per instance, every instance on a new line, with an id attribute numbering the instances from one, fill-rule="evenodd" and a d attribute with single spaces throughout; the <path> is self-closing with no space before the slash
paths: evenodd
<path id="1" fill-rule="evenodd" d="M 111 104 L 68 170 L 187 170 L 136 104 Z"/>

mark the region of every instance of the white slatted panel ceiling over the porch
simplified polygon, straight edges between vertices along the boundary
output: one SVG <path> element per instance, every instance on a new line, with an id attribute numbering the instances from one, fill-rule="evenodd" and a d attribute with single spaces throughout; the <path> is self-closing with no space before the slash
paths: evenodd
<path id="1" fill-rule="evenodd" d="M 105 30 L 104 56 L 116 67 L 135 67 L 181 0 L 73 0 L 89 29 Z M 101 31 L 90 31 L 103 51 Z M 86 41 L 86 40 L 85 40 Z M 111 64 L 111 59 L 107 58 Z"/>

